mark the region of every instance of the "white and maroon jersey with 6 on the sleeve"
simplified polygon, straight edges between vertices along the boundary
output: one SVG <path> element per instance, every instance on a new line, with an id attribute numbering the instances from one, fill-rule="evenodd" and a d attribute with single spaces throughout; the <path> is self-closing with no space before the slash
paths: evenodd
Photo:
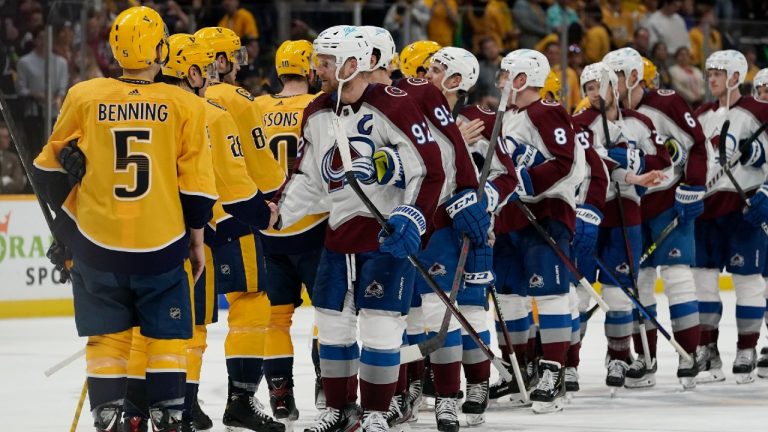
<path id="1" fill-rule="evenodd" d="M 707 150 L 701 125 L 685 99 L 674 90 L 645 92 L 635 110 L 651 119 L 662 141 L 674 138 L 688 155 L 684 166 L 670 165 L 664 170 L 667 179 L 648 188 L 643 196 L 643 220 L 648 220 L 674 205 L 675 189 L 680 183 L 704 186 Z"/>

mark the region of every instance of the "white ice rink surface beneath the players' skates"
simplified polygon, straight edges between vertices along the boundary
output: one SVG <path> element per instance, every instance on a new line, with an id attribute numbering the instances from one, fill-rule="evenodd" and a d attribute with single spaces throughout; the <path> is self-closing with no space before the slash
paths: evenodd
<path id="1" fill-rule="evenodd" d="M 658 296 L 660 321 L 669 328 L 666 300 Z M 462 430 L 481 431 L 738 431 L 768 430 L 768 380 L 737 385 L 730 373 L 736 350 L 735 296 L 723 293 L 724 316 L 720 327 L 720 351 L 726 381 L 699 385 L 683 391 L 675 377 L 677 354 L 659 334 L 659 372 L 656 387 L 650 390 L 619 391 L 611 398 L 605 386 L 604 315 L 597 312 L 581 351 L 581 391 L 573 394 L 564 412 L 535 415 L 530 409 L 491 407 L 484 425 Z M 490 320 L 490 315 L 489 315 Z M 300 308 L 294 317 L 296 350 L 296 394 L 301 417 L 295 431 L 312 423 L 314 371 L 309 357 L 312 309 Z M 762 330 L 765 333 L 765 329 Z M 200 399 L 214 419 L 213 431 L 223 431 L 221 416 L 227 396 L 224 363 L 226 314 L 209 326 Z M 0 320 L 0 423 L 2 430 L 66 432 L 72 423 L 85 376 L 80 358 L 50 378 L 43 371 L 81 349 L 84 339 L 75 332 L 73 318 Z M 761 338 L 758 351 L 765 346 Z M 495 346 L 495 345 L 494 345 Z M 496 380 L 496 374 L 491 382 Z M 259 398 L 268 406 L 266 384 Z M 461 416 L 463 420 L 463 416 Z M 88 402 L 78 431 L 93 431 Z M 435 430 L 433 412 L 421 412 L 412 430 Z"/>

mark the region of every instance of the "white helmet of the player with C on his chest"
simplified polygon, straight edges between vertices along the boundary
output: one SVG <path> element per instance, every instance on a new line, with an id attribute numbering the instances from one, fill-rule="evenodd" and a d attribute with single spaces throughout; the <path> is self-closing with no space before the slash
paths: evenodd
<path id="1" fill-rule="evenodd" d="M 330 55 L 336 59 L 336 79 L 344 83 L 354 78 L 359 72 L 370 71 L 373 45 L 366 33 L 359 27 L 341 25 L 323 30 L 312 43 L 315 55 Z M 357 70 L 348 78 L 339 76 L 347 60 L 357 60 Z"/>

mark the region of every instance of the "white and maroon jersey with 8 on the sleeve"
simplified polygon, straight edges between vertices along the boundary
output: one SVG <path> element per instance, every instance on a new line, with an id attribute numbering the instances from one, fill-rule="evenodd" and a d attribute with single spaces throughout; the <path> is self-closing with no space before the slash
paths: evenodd
<path id="1" fill-rule="evenodd" d="M 502 136 L 499 147 L 504 153 L 511 155 L 518 144 L 527 144 L 545 158 L 528 169 L 535 195 L 521 201 L 529 204 L 538 219 L 552 218 L 573 231 L 576 188 L 584 178 L 586 162 L 584 150 L 575 143 L 571 117 L 560 104 L 538 100 L 524 108 L 507 110 Z M 509 228 L 527 226 L 521 212 L 514 210 Z"/>

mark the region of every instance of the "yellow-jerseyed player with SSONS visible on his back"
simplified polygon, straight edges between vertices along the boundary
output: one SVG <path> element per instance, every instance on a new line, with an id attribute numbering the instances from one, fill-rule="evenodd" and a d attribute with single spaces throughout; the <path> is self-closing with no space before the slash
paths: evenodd
<path id="1" fill-rule="evenodd" d="M 275 68 L 283 84 L 278 94 L 255 100 L 262 113 L 259 136 L 272 151 L 284 171 L 293 169 L 298 152 L 304 108 L 315 98 L 309 94 L 314 71 L 311 68 L 312 44 L 305 40 L 285 41 L 275 54 Z M 271 314 L 266 335 L 264 375 L 269 385 L 272 414 L 290 422 L 299 412 L 293 396 L 293 344 L 291 318 L 301 305 L 302 284 L 312 292 L 323 247 L 327 213 L 305 216 L 280 231 L 262 231 Z M 315 371 L 319 376 L 317 344 L 312 345 Z M 317 393 L 316 393 L 317 395 Z"/>

